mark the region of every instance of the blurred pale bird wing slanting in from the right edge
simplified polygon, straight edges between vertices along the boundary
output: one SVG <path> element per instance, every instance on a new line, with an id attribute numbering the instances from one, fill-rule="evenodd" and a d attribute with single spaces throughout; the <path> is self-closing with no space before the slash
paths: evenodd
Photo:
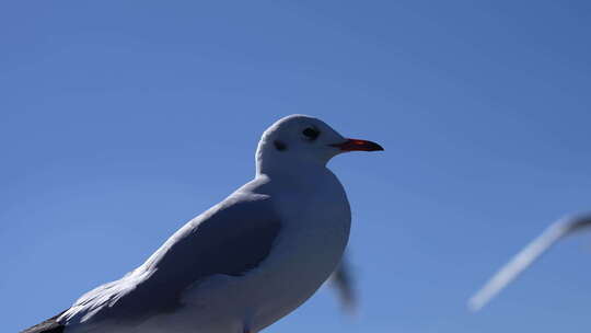
<path id="1" fill-rule="evenodd" d="M 468 308 L 478 311 L 557 241 L 590 227 L 591 213 L 564 217 L 552 223 L 468 300 Z"/>

